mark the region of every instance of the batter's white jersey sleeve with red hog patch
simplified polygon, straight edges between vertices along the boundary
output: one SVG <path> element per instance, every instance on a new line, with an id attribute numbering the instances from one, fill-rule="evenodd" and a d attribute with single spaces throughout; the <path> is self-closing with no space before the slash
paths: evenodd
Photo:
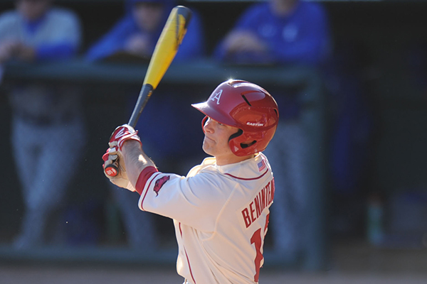
<path id="1" fill-rule="evenodd" d="M 185 178 L 154 173 L 139 198 L 139 209 L 175 219 L 201 231 L 214 231 L 216 217 L 232 190 L 225 178 L 199 173 Z"/>

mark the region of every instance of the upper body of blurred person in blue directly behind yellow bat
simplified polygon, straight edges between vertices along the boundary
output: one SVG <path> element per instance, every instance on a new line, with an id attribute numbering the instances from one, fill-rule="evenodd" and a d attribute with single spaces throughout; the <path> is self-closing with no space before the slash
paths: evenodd
<path id="1" fill-rule="evenodd" d="M 125 16 L 88 50 L 86 59 L 102 60 L 115 53 L 130 53 L 149 59 L 174 3 L 174 0 L 127 0 Z M 203 55 L 201 18 L 193 11 L 174 61 L 201 58 Z"/>

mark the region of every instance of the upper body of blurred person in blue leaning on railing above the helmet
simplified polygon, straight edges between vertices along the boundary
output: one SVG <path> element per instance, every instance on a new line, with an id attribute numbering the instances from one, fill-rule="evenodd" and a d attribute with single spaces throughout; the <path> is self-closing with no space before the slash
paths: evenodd
<path id="1" fill-rule="evenodd" d="M 270 0 L 250 6 L 214 56 L 228 62 L 319 65 L 329 48 L 327 15 L 320 4 Z"/>

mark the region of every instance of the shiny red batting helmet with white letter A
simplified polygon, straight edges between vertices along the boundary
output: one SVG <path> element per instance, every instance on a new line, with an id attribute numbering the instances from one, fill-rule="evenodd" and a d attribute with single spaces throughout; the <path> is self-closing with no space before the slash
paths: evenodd
<path id="1" fill-rule="evenodd" d="M 191 104 L 221 124 L 240 129 L 228 139 L 238 156 L 264 151 L 273 138 L 279 109 L 265 89 L 243 80 L 228 80 L 216 87 L 206 102 Z M 202 122 L 204 124 L 206 118 Z"/>

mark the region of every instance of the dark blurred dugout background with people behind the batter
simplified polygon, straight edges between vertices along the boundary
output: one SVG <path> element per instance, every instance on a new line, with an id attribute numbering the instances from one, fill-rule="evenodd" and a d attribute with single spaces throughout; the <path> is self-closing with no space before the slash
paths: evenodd
<path id="1" fill-rule="evenodd" d="M 230 78 L 259 84 L 282 124 L 266 152 L 278 185 L 265 271 L 426 272 L 427 1 L 270 0 L 285 11 L 272 21 L 256 13 L 268 2 L 0 1 L 0 271 L 174 272 L 172 220 L 138 212 L 101 157 L 130 117 L 164 15 L 181 4 L 191 26 L 137 126 L 159 170 L 186 175 L 205 157 L 191 103 Z M 239 51 L 241 31 L 259 45 Z"/>

